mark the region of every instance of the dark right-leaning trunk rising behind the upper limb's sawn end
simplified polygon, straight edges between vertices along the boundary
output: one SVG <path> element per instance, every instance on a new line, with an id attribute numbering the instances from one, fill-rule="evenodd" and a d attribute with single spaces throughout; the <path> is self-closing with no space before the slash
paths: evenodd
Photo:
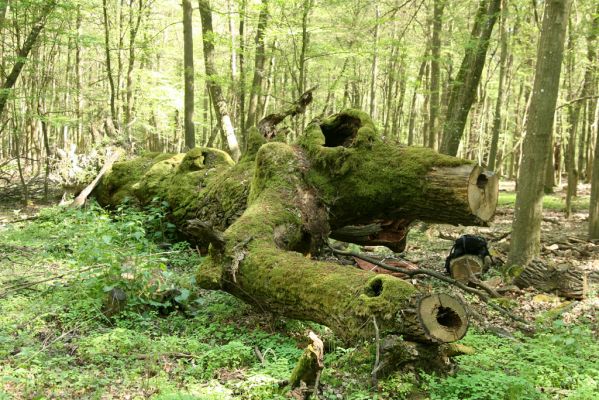
<path id="1" fill-rule="evenodd" d="M 443 127 L 441 152 L 456 155 L 464 133 L 468 113 L 480 81 L 489 39 L 501 8 L 501 0 L 480 0 L 470 40 L 456 79 L 452 83 L 449 106 Z"/>

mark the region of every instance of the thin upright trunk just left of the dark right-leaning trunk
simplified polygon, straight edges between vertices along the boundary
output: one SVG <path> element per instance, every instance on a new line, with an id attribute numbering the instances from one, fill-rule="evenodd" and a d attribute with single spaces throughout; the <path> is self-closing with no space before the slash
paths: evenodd
<path id="1" fill-rule="evenodd" d="M 434 0 L 433 29 L 431 38 L 431 86 L 430 112 L 428 120 L 428 147 L 434 149 L 437 145 L 437 118 L 439 115 L 439 86 L 441 59 L 441 31 L 443 29 L 443 9 L 445 0 Z"/>

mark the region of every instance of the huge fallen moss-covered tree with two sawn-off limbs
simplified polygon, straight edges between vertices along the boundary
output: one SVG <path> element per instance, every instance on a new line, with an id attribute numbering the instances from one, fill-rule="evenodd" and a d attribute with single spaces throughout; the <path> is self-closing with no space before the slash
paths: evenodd
<path id="1" fill-rule="evenodd" d="M 393 145 L 366 114 L 347 110 L 310 124 L 293 145 L 276 136 L 267 142 L 253 129 L 237 164 L 206 148 L 117 163 L 97 197 L 112 205 L 126 197 L 167 200 L 182 232 L 210 249 L 198 272 L 205 288 L 324 324 L 347 341 L 372 338 L 375 317 L 381 335 L 444 343 L 467 330 L 457 299 L 313 257 L 329 236 L 352 227 L 375 228 L 345 240 L 401 251 L 415 220 L 485 225 L 497 187 L 496 177 L 472 162 Z M 190 220 L 201 229 L 186 231 Z"/>

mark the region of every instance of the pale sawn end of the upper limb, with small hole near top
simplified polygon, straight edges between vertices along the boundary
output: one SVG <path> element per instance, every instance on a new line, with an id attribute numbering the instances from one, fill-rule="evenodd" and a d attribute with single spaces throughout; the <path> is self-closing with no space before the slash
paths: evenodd
<path id="1" fill-rule="evenodd" d="M 499 179 L 491 171 L 476 166 L 468 180 L 468 203 L 472 214 L 482 221 L 489 221 L 495 214 L 499 198 Z"/>

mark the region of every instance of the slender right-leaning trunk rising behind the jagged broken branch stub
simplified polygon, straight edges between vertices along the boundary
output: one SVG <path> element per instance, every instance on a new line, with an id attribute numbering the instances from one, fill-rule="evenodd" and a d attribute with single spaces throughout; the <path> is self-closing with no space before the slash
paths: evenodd
<path id="1" fill-rule="evenodd" d="M 256 125 L 258 118 L 258 103 L 262 95 L 262 86 L 264 80 L 264 62 L 266 60 L 266 51 L 264 45 L 264 34 L 268 23 L 268 0 L 262 0 L 260 16 L 258 17 L 258 29 L 256 30 L 256 58 L 254 60 L 254 79 L 252 79 L 252 89 L 250 91 L 250 102 L 248 105 L 248 116 L 245 126 L 251 128 Z"/>

